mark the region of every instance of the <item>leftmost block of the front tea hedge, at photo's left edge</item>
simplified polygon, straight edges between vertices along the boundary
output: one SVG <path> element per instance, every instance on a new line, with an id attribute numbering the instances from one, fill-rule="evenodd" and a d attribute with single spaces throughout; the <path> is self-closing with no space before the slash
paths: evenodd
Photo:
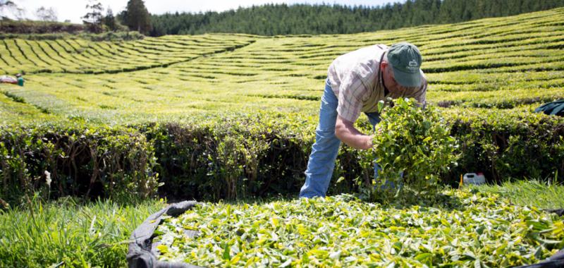
<path id="1" fill-rule="evenodd" d="M 0 199 L 157 193 L 152 144 L 131 128 L 50 123 L 0 127 Z"/>

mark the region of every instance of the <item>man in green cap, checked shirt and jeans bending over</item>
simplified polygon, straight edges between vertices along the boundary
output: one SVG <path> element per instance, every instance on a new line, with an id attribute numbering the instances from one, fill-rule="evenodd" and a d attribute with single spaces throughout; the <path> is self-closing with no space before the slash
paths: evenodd
<path id="1" fill-rule="evenodd" d="M 376 126 L 380 100 L 413 97 L 420 105 L 426 104 L 427 79 L 421 63 L 419 49 L 407 42 L 365 47 L 331 63 L 300 197 L 325 196 L 341 141 L 360 150 L 372 148 L 372 135 L 354 126 L 361 111 Z M 378 169 L 375 165 L 375 177 Z"/>

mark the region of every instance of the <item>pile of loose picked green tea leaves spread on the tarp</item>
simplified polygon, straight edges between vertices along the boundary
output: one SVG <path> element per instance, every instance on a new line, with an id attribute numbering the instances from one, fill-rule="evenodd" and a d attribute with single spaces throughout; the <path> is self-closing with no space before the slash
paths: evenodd
<path id="1" fill-rule="evenodd" d="M 204 267 L 508 267 L 564 247 L 564 217 L 470 190 L 439 195 L 441 205 L 203 203 L 166 218 L 154 241 L 159 260 Z"/>

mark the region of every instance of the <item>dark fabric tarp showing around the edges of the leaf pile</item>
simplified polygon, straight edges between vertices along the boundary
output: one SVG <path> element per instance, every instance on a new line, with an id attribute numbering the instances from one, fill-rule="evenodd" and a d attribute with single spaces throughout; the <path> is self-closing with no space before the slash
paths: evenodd
<path id="1" fill-rule="evenodd" d="M 179 263 L 179 262 L 161 262 L 157 260 L 154 248 L 157 243 L 153 243 L 154 231 L 161 224 L 162 217 L 166 214 L 171 217 L 177 217 L 186 210 L 192 209 L 197 205 L 195 201 L 183 201 L 168 205 L 159 212 L 149 216 L 143 223 L 131 234 L 131 242 L 129 244 L 129 252 L 127 255 L 128 265 L 130 268 L 198 268 L 198 266 Z M 562 216 L 564 209 L 547 209 L 547 212 L 556 213 Z M 189 237 L 197 236 L 195 231 L 185 231 Z M 552 257 L 539 262 L 537 264 L 523 265 L 516 268 L 562 268 L 564 267 L 564 248 Z"/>

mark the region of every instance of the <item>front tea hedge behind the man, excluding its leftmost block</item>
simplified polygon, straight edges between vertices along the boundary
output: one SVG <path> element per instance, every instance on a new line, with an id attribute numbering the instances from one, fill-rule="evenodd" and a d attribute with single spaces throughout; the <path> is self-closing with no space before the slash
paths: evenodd
<path id="1" fill-rule="evenodd" d="M 564 120 L 556 116 L 503 110 L 453 109 L 445 116 L 460 140 L 458 166 L 443 182 L 482 171 L 490 182 L 509 178 L 564 178 Z M 178 197 L 240 198 L 298 193 L 314 142 L 314 118 L 255 114 L 170 123 L 146 131 L 154 140 L 164 193 Z M 309 122 L 309 123 L 305 123 Z M 360 128 L 371 126 L 362 120 Z M 154 132 L 157 131 L 157 132 Z M 361 154 L 343 146 L 330 194 L 358 190 L 355 178 L 372 173 Z"/>

